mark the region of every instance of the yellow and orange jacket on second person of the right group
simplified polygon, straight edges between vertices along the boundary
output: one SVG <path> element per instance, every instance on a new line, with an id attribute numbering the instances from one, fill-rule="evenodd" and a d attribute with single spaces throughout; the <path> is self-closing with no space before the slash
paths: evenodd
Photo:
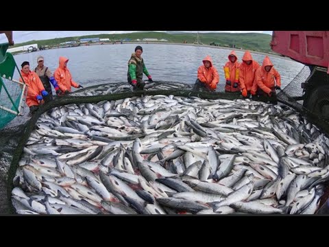
<path id="1" fill-rule="evenodd" d="M 230 55 L 234 55 L 236 57 L 236 60 L 234 63 L 230 61 Z M 240 86 L 239 86 L 239 62 L 238 62 L 238 56 L 236 56 L 235 51 L 231 51 L 230 55 L 228 55 L 228 62 L 226 62 L 225 66 L 223 67 L 224 69 L 224 74 L 225 74 L 225 79 L 231 81 L 231 86 L 228 84 L 225 84 L 225 91 L 228 92 L 236 92 L 240 91 Z M 234 89 L 233 84 L 234 82 L 238 83 L 238 87 Z"/>

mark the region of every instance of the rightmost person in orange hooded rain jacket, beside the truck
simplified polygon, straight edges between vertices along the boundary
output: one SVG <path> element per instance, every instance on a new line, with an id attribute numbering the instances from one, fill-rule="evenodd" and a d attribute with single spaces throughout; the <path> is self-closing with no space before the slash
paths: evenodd
<path id="1" fill-rule="evenodd" d="M 265 56 L 262 67 L 256 70 L 255 80 L 258 85 L 257 94 L 259 99 L 263 102 L 278 104 L 276 89 L 281 89 L 281 76 L 273 68 L 273 64 L 268 56 Z"/>

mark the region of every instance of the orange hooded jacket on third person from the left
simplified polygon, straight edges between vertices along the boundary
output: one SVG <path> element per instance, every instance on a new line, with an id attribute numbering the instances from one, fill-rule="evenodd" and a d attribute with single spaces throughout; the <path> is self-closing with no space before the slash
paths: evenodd
<path id="1" fill-rule="evenodd" d="M 67 67 L 64 67 L 64 63 L 66 61 L 69 61 L 68 58 L 60 57 L 60 65 L 56 69 L 56 71 L 53 73 L 53 77 L 58 82 L 58 86 L 60 87 L 60 90 L 64 93 L 64 91 L 68 90 L 71 92 L 71 86 L 74 86 L 77 88 L 79 84 L 77 82 L 73 81 L 71 72 Z"/>

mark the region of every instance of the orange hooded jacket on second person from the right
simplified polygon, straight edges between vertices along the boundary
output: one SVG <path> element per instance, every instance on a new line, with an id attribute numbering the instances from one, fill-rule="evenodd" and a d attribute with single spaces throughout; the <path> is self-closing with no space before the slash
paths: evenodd
<path id="1" fill-rule="evenodd" d="M 239 82 L 241 90 L 247 89 L 247 91 L 257 91 L 257 82 L 255 80 L 256 70 L 260 67 L 258 62 L 252 59 L 252 54 L 249 51 L 245 51 L 242 58 L 243 61 L 252 60 L 251 64 L 241 62 L 239 66 Z"/>

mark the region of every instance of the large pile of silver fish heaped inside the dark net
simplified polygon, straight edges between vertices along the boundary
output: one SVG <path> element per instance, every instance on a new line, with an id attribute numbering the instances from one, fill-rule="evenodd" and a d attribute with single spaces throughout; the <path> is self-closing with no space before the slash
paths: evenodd
<path id="1" fill-rule="evenodd" d="M 14 177 L 19 214 L 313 214 L 329 139 L 285 105 L 154 95 L 42 115 Z"/>

